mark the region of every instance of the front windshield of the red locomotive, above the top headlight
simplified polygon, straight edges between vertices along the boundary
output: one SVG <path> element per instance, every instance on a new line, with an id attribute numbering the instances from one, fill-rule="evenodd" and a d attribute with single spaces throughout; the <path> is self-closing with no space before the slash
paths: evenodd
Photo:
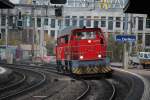
<path id="1" fill-rule="evenodd" d="M 83 40 L 83 39 L 95 39 L 96 38 L 96 32 L 78 32 L 76 35 L 81 40 Z"/>

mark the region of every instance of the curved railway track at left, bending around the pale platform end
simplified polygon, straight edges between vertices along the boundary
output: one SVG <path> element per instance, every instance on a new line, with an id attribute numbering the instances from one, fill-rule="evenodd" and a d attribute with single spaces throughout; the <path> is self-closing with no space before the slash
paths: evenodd
<path id="1" fill-rule="evenodd" d="M 23 78 L 11 85 L 1 88 L 3 92 L 0 93 L 0 100 L 8 100 L 10 98 L 13 99 L 15 96 L 19 96 L 22 93 L 41 86 L 46 80 L 46 76 L 43 73 L 25 68 L 16 68 L 14 65 L 11 65 L 11 67 L 9 66 L 9 68 L 15 70 L 16 72 L 22 73 L 20 75 L 22 75 Z"/>

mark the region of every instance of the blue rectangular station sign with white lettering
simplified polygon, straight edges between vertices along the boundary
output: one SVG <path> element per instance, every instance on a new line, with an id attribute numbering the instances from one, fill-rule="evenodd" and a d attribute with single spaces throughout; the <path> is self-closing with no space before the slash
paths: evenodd
<path id="1" fill-rule="evenodd" d="M 116 35 L 117 42 L 135 42 L 136 36 L 135 35 Z"/>

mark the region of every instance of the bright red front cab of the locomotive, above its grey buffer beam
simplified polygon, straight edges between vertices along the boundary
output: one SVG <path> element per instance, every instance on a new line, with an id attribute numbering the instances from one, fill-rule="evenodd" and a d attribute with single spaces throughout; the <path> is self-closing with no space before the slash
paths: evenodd
<path id="1" fill-rule="evenodd" d="M 106 41 L 100 30 L 74 30 L 71 34 L 70 45 L 72 55 L 78 55 L 77 59 L 96 60 L 106 57 Z"/>

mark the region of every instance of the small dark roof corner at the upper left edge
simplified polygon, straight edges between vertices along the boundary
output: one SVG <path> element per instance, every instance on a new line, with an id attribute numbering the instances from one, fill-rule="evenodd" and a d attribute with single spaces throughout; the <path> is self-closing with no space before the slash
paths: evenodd
<path id="1" fill-rule="evenodd" d="M 9 0 L 0 0 L 0 9 L 10 9 L 14 8 L 14 4 L 9 2 Z"/>

